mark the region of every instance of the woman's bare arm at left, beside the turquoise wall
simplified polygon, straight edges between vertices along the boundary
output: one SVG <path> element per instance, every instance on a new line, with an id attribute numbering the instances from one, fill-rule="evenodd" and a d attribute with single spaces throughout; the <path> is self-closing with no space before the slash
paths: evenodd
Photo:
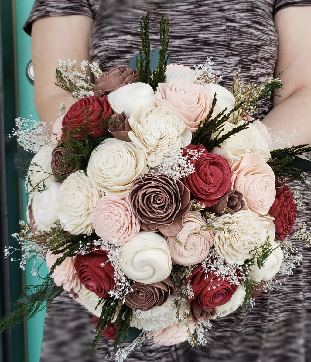
<path id="1" fill-rule="evenodd" d="M 54 85 L 58 59 L 89 60 L 89 38 L 93 19 L 83 15 L 38 19 L 31 31 L 31 56 L 34 67 L 34 98 L 39 118 L 51 132 L 59 116 L 59 105 L 71 106 L 73 98 Z"/>

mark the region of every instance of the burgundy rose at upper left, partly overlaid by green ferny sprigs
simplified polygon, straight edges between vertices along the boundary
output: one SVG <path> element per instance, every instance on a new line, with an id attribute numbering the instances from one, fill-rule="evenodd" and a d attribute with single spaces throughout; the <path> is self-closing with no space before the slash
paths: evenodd
<path id="1" fill-rule="evenodd" d="M 85 134 L 93 138 L 104 136 L 107 132 L 106 118 L 112 114 L 107 96 L 81 98 L 64 115 L 62 138 L 66 138 L 67 132 L 76 138 L 82 138 Z"/>

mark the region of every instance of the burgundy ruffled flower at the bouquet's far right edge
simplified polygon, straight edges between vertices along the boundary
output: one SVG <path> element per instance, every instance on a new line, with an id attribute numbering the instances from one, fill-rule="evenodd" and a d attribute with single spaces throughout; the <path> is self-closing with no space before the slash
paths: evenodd
<path id="1" fill-rule="evenodd" d="M 285 185 L 277 190 L 276 199 L 270 207 L 269 215 L 275 219 L 276 239 L 284 241 L 293 230 L 297 218 L 294 196 L 288 186 Z"/>

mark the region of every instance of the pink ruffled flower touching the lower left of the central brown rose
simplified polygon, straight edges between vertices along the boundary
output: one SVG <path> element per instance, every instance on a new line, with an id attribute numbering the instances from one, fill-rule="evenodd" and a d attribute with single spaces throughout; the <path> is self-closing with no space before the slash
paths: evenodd
<path id="1" fill-rule="evenodd" d="M 102 197 L 92 213 L 92 224 L 98 236 L 117 246 L 132 239 L 140 230 L 129 195 Z"/>

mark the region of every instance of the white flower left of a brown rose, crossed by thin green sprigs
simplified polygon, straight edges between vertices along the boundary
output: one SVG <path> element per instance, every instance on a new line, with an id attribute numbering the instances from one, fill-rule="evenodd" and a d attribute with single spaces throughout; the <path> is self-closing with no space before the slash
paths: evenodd
<path id="1" fill-rule="evenodd" d="M 55 146 L 42 147 L 31 160 L 28 171 L 28 179 L 30 181 L 27 185 L 28 192 L 35 191 L 37 185 L 41 188 L 43 186 L 43 180 L 45 184 L 49 180 L 54 180 L 51 169 L 52 152 L 54 148 Z"/>

